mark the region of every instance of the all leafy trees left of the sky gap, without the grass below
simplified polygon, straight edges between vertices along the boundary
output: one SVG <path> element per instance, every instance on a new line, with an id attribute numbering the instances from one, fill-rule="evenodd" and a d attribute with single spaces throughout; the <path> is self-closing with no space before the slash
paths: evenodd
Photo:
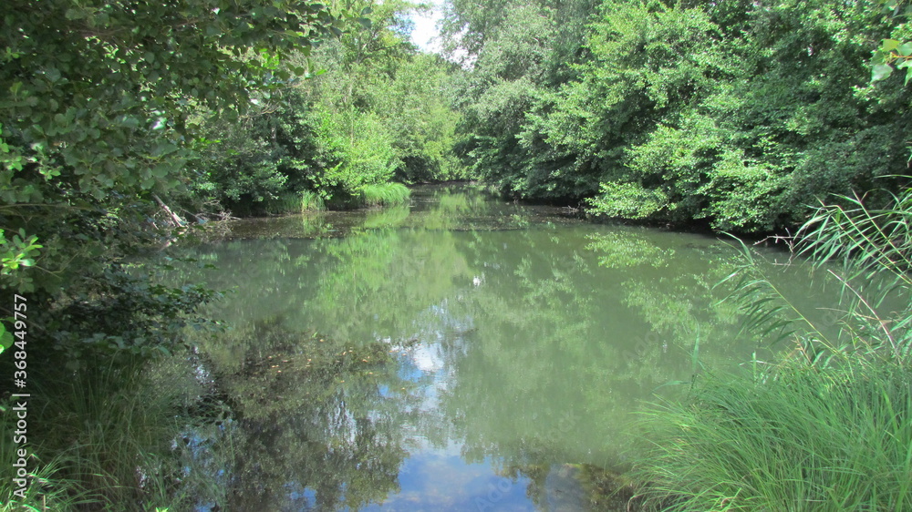
<path id="1" fill-rule="evenodd" d="M 300 210 L 302 193 L 401 201 L 389 180 L 458 172 L 451 65 L 408 42 L 415 5 L 371 6 L 6 6 L 0 280 L 46 340 L 71 358 L 173 344 L 212 293 L 152 289 L 123 261 L 191 220 Z"/>

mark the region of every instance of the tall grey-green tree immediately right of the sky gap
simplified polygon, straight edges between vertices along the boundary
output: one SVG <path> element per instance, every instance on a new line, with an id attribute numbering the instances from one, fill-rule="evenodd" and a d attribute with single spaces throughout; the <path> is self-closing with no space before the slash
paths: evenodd
<path id="1" fill-rule="evenodd" d="M 552 110 L 555 90 L 576 76 L 594 6 L 588 0 L 449 6 L 444 41 L 469 68 L 453 95 L 463 116 L 456 150 L 505 195 L 565 199 L 597 188 L 591 179 L 562 175 L 573 156 L 551 152 L 528 120 Z"/>

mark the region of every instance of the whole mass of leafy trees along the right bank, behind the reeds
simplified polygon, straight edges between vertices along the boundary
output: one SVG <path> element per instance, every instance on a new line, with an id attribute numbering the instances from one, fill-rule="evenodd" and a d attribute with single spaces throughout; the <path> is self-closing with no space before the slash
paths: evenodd
<path id="1" fill-rule="evenodd" d="M 908 93 L 868 61 L 909 29 L 879 4 L 502 4 L 454 2 L 449 34 L 461 155 L 503 193 L 771 230 L 907 167 Z"/>

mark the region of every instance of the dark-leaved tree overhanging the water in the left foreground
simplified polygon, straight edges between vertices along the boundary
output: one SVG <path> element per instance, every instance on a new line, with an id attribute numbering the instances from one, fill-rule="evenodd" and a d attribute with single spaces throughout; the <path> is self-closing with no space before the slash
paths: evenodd
<path id="1" fill-rule="evenodd" d="M 0 229 L 19 233 L 3 242 L 19 266 L 5 264 L 0 283 L 44 303 L 36 328 L 91 337 L 91 318 L 78 311 L 103 318 L 83 307 L 99 293 L 106 300 L 94 305 L 104 310 L 117 307 L 119 292 L 150 292 L 134 287 L 117 261 L 148 240 L 155 199 L 189 183 L 194 116 L 243 113 L 258 91 L 306 72 L 276 59 L 309 55 L 352 17 L 293 0 L 8 2 L 0 22 Z M 172 292 L 122 303 L 179 303 L 180 291 Z M 101 337 L 117 338 L 108 334 Z"/>

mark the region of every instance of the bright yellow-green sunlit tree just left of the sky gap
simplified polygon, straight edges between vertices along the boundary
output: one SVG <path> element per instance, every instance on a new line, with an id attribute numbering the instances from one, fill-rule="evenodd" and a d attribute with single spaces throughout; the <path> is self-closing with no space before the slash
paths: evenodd
<path id="1" fill-rule="evenodd" d="M 391 165 L 391 174 L 370 170 L 376 166 L 366 169 L 368 183 L 380 176 L 403 181 L 450 178 L 458 172 L 450 158 L 458 115 L 448 105 L 444 87 L 453 66 L 439 56 L 421 54 L 409 42 L 408 15 L 426 5 L 366 5 L 371 9 L 370 29 L 347 34 L 320 52 L 329 72 L 314 82 L 316 110 L 348 119 L 348 128 L 326 132 L 327 140 L 352 160 L 377 161 L 382 156 Z M 373 144 L 359 148 L 352 138 L 359 130 L 367 130 Z M 381 147 L 389 152 L 378 153 Z M 362 173 L 343 164 L 340 170 L 345 169 Z"/>

